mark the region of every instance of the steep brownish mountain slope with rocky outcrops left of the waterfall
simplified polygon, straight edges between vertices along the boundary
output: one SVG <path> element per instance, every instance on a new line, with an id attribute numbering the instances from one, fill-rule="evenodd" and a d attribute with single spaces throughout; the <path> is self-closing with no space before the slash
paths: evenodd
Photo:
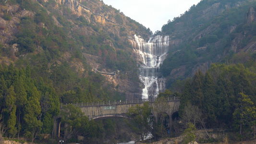
<path id="1" fill-rule="evenodd" d="M 0 12 L 1 63 L 30 65 L 33 77 L 52 82 L 60 96 L 77 86 L 91 100 L 141 94 L 128 36 L 152 32 L 118 10 L 100 0 L 6 0 Z"/>

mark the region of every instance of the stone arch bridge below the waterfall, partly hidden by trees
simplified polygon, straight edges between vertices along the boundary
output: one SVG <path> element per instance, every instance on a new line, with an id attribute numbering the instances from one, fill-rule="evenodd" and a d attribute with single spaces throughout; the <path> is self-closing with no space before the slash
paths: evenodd
<path id="1" fill-rule="evenodd" d="M 170 127 L 171 123 L 178 113 L 178 108 L 180 106 L 180 99 L 174 97 L 166 98 L 168 107 L 165 110 L 166 114 L 168 114 L 170 119 Z M 154 108 L 157 107 L 156 105 L 156 98 L 149 98 L 149 99 L 132 99 L 132 100 L 120 100 L 120 101 L 108 101 L 108 102 L 93 102 L 93 103 L 80 103 L 80 104 L 73 104 L 75 107 L 81 108 L 82 112 L 89 118 L 89 120 L 102 120 L 102 119 L 109 119 L 109 118 L 125 118 L 129 119 L 127 116 L 128 110 L 131 107 L 135 107 L 139 105 L 140 107 L 144 105 L 144 103 L 148 101 L 149 106 L 152 109 L 153 116 L 157 116 L 157 112 L 154 111 Z M 61 104 L 61 108 L 63 105 Z M 61 125 L 61 118 L 55 121 L 54 124 L 54 136 L 60 136 L 60 125 Z"/>

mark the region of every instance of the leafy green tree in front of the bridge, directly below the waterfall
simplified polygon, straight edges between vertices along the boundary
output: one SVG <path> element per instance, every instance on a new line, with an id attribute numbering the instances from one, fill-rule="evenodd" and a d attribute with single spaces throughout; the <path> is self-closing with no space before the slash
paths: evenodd
<path id="1" fill-rule="evenodd" d="M 150 131 L 150 114 L 151 108 L 148 102 L 145 102 L 143 106 L 137 104 L 128 110 L 128 116 L 132 118 L 133 122 L 131 127 L 134 132 L 140 134 L 142 140 L 144 140 L 146 134 Z"/>

